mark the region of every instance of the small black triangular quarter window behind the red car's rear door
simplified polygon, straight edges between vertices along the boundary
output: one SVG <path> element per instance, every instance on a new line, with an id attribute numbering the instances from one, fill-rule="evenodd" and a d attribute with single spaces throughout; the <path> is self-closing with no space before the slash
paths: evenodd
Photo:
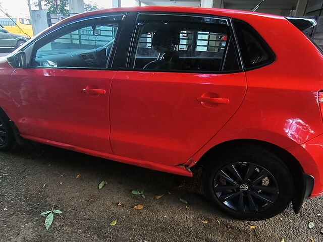
<path id="1" fill-rule="evenodd" d="M 247 23 L 233 20 L 246 69 L 273 63 L 275 55 L 261 36 Z"/>

